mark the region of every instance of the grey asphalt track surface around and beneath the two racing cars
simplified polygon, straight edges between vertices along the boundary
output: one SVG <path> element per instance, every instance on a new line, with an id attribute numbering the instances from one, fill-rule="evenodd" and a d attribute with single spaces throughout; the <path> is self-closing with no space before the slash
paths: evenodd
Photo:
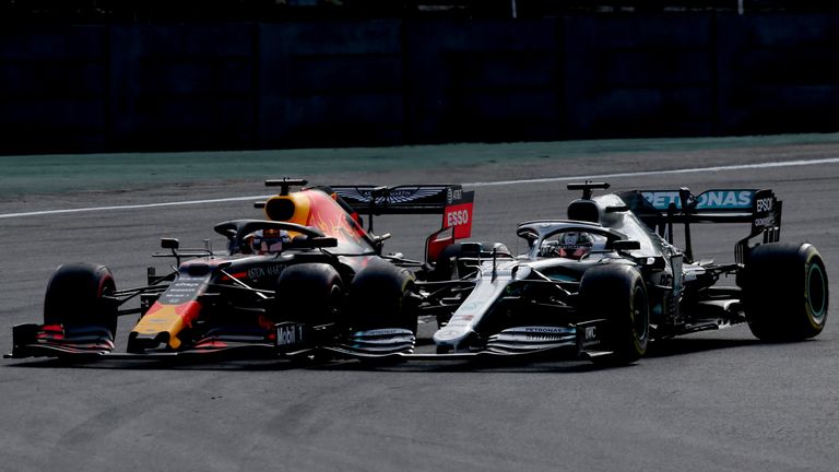
<path id="1" fill-rule="evenodd" d="M 341 174 L 319 167 L 312 181 L 473 182 L 474 238 L 511 248 L 517 222 L 564 216 L 576 197 L 562 180 L 569 176 L 637 173 L 608 178 L 613 190 L 772 188 L 784 201 L 782 239 L 816 245 L 830 291 L 839 293 L 836 137 L 709 142 L 714 145 L 641 142 L 599 153 L 528 144 L 520 149 L 532 155 L 522 158 L 512 158 L 519 148 L 504 148 L 509 160 L 487 154 L 493 146 L 462 146 L 472 156 L 463 165 L 398 162 Z M 803 161 L 813 163 L 760 167 Z M 16 166 L 0 160 L 7 176 Z M 659 173 L 711 166 L 746 167 Z M 259 196 L 267 193 L 259 179 L 287 168 L 276 163 L 255 179 L 202 176 L 128 191 L 35 185 L 0 197 L 0 215 Z M 487 184 L 544 178 L 556 179 Z M 119 287 L 139 285 L 147 266 L 165 268 L 149 257 L 159 237 L 221 245 L 213 224 L 257 215 L 247 201 L 232 200 L 0 219 L 0 347 L 11 347 L 12 324 L 39 319 L 59 263 L 105 263 Z M 377 221 L 377 228 L 394 234 L 390 250 L 420 257 L 436 224 L 393 217 Z M 733 244 L 746 231 L 700 229 L 695 252 L 720 262 L 733 259 Z M 133 319 L 121 321 L 118 349 Z M 791 344 L 763 344 L 735 327 L 655 343 L 646 358 L 621 368 L 586 362 L 300 368 L 273 361 L 71 367 L 3 359 L 0 471 L 836 471 L 838 338 L 835 319 L 817 339 Z"/>

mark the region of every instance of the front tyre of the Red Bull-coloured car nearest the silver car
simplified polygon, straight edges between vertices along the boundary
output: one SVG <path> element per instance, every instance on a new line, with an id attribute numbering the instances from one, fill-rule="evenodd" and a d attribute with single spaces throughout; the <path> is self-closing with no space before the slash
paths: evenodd
<path id="1" fill-rule="evenodd" d="M 328 263 L 287 267 L 276 280 L 271 319 L 326 324 L 339 321 L 344 288 L 341 275 Z"/>

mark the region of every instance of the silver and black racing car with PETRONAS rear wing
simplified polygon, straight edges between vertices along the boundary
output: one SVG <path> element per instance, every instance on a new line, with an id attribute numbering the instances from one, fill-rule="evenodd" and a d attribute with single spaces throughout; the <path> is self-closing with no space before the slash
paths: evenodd
<path id="1" fill-rule="evenodd" d="M 572 184 L 567 220 L 521 223 L 528 244 L 446 248 L 436 278 L 414 284 L 417 316 L 437 318 L 436 352 L 344 355 L 454 358 L 554 355 L 633 363 L 650 340 L 748 323 L 767 341 L 817 335 L 828 311 L 825 262 L 810 244 L 780 244 L 782 204 L 771 190 L 636 190 L 592 197 L 605 182 Z M 734 262 L 698 260 L 692 225 L 746 223 Z M 674 245 L 674 227 L 684 234 Z M 449 276 L 445 276 L 445 272 Z M 719 284 L 733 276 L 734 284 Z M 409 333 L 394 332 L 399 340 Z M 385 342 L 385 340 L 380 340 Z M 394 342 L 395 344 L 395 342 Z"/>

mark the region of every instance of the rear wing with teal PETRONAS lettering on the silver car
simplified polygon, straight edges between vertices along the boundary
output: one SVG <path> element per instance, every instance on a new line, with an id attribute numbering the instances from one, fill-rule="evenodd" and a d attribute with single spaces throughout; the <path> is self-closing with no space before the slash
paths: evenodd
<path id="1" fill-rule="evenodd" d="M 635 190 L 619 196 L 650 228 L 673 243 L 673 225 L 685 227 L 685 255 L 690 258 L 692 223 L 749 223 L 748 236 L 737 241 L 736 259 L 742 262 L 748 241 L 763 235 L 764 243 L 781 237 L 782 201 L 771 190 L 711 189 L 695 196 L 678 190 Z"/>

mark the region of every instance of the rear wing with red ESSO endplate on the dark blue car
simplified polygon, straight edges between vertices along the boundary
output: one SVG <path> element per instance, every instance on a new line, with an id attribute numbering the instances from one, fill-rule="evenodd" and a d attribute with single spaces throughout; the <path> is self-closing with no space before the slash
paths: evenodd
<path id="1" fill-rule="evenodd" d="M 440 228 L 426 239 L 426 261 L 433 262 L 456 239 L 472 236 L 474 191 L 460 185 L 404 185 L 395 187 L 329 186 L 354 212 L 367 215 L 373 233 L 374 216 L 386 214 L 440 214 Z"/>

